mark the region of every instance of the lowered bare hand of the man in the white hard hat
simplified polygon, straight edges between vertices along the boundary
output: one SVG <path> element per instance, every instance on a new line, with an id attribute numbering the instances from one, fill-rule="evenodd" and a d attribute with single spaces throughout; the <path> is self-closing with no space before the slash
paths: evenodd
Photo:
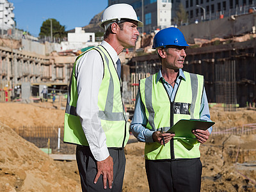
<path id="1" fill-rule="evenodd" d="M 112 183 L 113 183 L 113 158 L 111 156 L 108 156 L 107 159 L 103 161 L 97 161 L 97 175 L 94 179 L 94 183 L 96 184 L 100 175 L 103 176 L 103 186 L 104 189 L 107 188 L 107 179 L 108 179 L 108 185 L 109 189 L 112 189 Z"/>

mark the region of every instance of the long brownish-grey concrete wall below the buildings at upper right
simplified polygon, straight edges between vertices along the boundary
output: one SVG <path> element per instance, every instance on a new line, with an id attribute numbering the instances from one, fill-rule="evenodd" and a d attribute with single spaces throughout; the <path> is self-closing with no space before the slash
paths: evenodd
<path id="1" fill-rule="evenodd" d="M 179 26 L 189 44 L 194 44 L 195 38 L 227 38 L 252 32 L 252 26 L 256 26 L 256 13 L 246 15 L 224 17 L 223 19 L 208 20 L 198 24 Z"/>

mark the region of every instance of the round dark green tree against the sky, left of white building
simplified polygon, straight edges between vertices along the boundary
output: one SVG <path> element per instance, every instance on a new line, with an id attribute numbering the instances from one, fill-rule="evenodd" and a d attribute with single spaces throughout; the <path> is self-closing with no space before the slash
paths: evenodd
<path id="1" fill-rule="evenodd" d="M 47 19 L 43 22 L 39 36 L 42 38 L 44 36 L 51 36 L 51 22 L 52 22 L 52 37 L 64 38 L 67 37 L 67 32 L 65 31 L 65 26 L 61 26 L 60 22 L 56 19 Z"/>

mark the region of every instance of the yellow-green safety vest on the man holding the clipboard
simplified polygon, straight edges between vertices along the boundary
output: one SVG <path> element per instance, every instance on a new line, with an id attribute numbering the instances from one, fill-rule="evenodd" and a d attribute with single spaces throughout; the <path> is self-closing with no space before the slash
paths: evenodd
<path id="1" fill-rule="evenodd" d="M 158 74 L 158 73 L 157 73 Z M 180 119 L 200 119 L 200 104 L 204 90 L 204 76 L 184 72 L 173 102 L 165 90 L 163 79 L 157 74 L 140 80 L 141 101 L 147 116 L 146 128 L 168 131 Z M 166 145 L 145 144 L 145 159 L 184 159 L 200 157 L 200 143 L 195 136 L 174 137 Z"/>

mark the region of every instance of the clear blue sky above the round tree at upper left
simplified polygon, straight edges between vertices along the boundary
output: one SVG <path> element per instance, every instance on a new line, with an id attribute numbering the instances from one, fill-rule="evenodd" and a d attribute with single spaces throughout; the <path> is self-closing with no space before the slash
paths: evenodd
<path id="1" fill-rule="evenodd" d="M 8 0 L 17 28 L 38 36 L 44 20 L 56 19 L 66 30 L 83 27 L 108 6 L 108 0 Z"/>

